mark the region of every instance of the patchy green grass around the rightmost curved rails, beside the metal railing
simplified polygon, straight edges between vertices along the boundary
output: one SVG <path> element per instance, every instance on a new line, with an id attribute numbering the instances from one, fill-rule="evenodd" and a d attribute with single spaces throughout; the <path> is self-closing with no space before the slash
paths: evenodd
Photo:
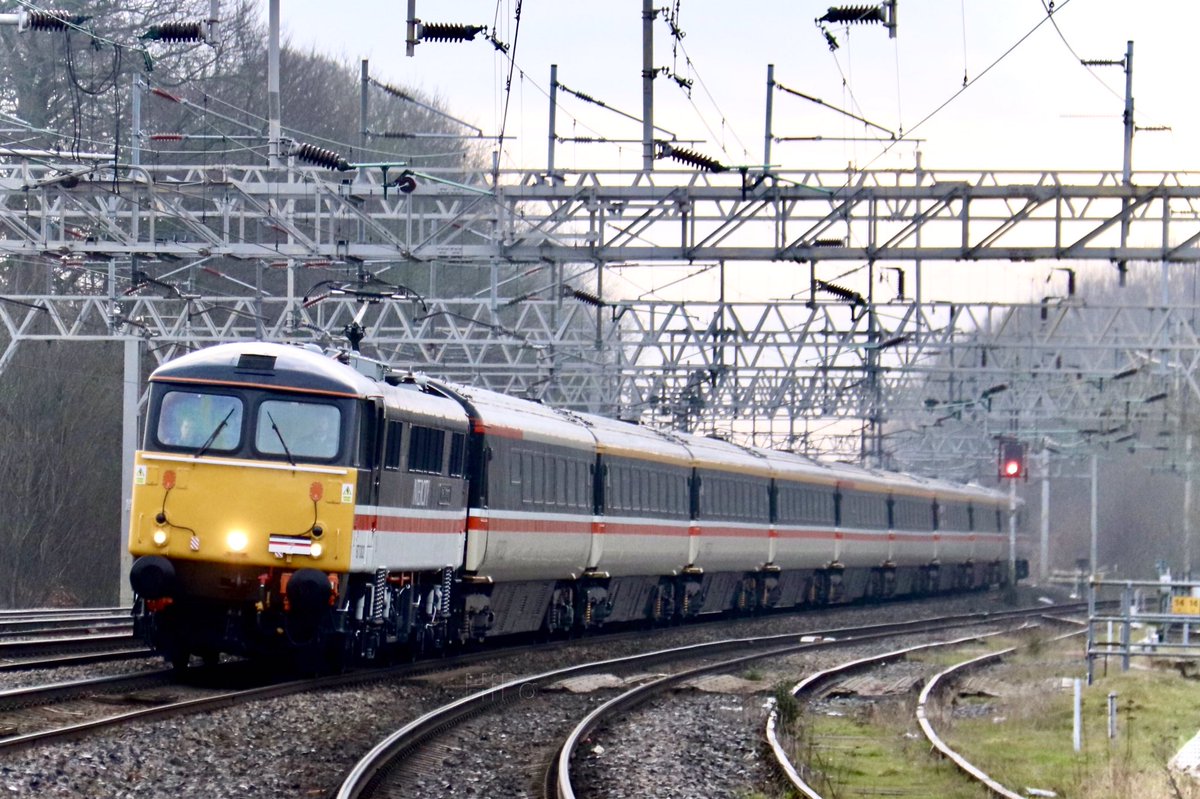
<path id="1" fill-rule="evenodd" d="M 965 656 L 931 655 L 928 662 Z M 1200 788 L 1177 782 L 1166 770 L 1170 757 L 1200 729 L 1200 681 L 1174 669 L 1121 673 L 1114 666 L 1084 689 L 1084 746 L 1076 753 L 1073 690 L 1064 678 L 1082 675 L 1085 666 L 1078 641 L 1033 639 L 990 673 L 997 685 L 1012 686 L 1006 696 L 960 697 L 960 713 L 934 709 L 931 720 L 952 747 L 1018 793 L 1036 787 L 1072 799 L 1200 799 Z M 931 756 L 911 697 L 833 701 L 815 710 L 790 707 L 781 696 L 786 689 L 779 689 L 781 728 L 791 735 L 793 762 L 817 773 L 810 781 L 827 799 L 984 795 L 952 764 Z M 1115 740 L 1108 738 L 1110 691 L 1118 697 Z"/>

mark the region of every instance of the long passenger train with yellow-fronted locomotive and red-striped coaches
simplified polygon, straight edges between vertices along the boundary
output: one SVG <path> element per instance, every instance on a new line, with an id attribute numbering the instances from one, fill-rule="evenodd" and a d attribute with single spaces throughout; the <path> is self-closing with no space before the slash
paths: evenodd
<path id="1" fill-rule="evenodd" d="M 1010 499 L 660 431 L 314 344 L 149 378 L 128 547 L 172 663 L 340 665 L 1009 583 Z"/>

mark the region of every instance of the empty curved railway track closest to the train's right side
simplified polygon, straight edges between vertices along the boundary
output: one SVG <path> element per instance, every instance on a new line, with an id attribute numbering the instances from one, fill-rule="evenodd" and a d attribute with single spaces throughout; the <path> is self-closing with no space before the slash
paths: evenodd
<path id="1" fill-rule="evenodd" d="M 667 663 L 678 666 L 680 662 L 697 660 L 712 661 L 713 659 L 719 659 L 715 662 L 707 662 L 698 667 L 692 667 L 688 672 L 680 672 L 679 674 L 682 675 L 678 677 L 678 679 L 682 680 L 706 671 L 727 671 L 730 668 L 737 668 L 739 665 L 750 661 L 779 657 L 786 654 L 803 651 L 805 649 L 847 645 L 851 643 L 862 643 L 896 635 L 919 633 L 925 632 L 931 627 L 943 629 L 948 625 L 978 625 L 996 623 L 1009 617 L 1019 618 L 1021 615 L 1044 612 L 1045 608 L 1031 608 L 1021 612 L 990 613 L 984 615 L 968 614 L 940 619 L 924 619 L 919 621 L 868 625 L 863 627 L 842 627 L 836 630 L 818 631 L 805 636 L 803 641 L 796 633 L 764 636 L 761 638 L 727 639 L 706 644 L 692 644 L 677 649 L 659 650 L 628 657 L 595 661 L 568 668 L 554 669 L 528 678 L 508 680 L 492 687 L 476 691 L 470 696 L 457 699 L 425 714 L 420 719 L 410 722 L 385 740 L 380 741 L 350 770 L 343 780 L 336 795 L 338 799 L 359 799 L 362 797 L 412 795 L 413 792 L 427 792 L 431 788 L 436 789 L 438 787 L 445 788 L 445 786 L 436 786 L 433 782 L 439 779 L 444 779 L 444 775 L 448 771 L 448 769 L 444 768 L 448 759 L 450 762 L 461 762 L 463 758 L 472 756 L 470 752 L 464 752 L 462 746 L 454 743 L 456 728 L 474 725 L 476 723 L 476 719 L 484 715 L 503 711 L 511 708 L 515 703 L 532 704 L 534 702 L 540 702 L 545 696 L 547 696 L 548 686 L 572 678 L 578 678 L 584 674 L 624 673 L 626 678 L 629 678 L 630 675 L 636 675 L 637 672 L 644 672 L 647 668 L 661 667 Z M 826 641 L 826 638 L 833 638 L 833 641 Z M 728 655 L 731 651 L 737 651 L 737 656 L 720 660 L 722 655 Z M 636 678 L 635 681 L 637 681 Z M 622 699 L 620 697 L 617 697 L 617 699 L 614 699 L 616 704 L 611 704 L 611 707 L 608 707 L 608 709 L 599 716 L 593 716 L 593 714 L 588 713 L 592 708 L 588 708 L 587 705 L 589 702 L 593 704 L 595 702 L 594 693 L 588 695 L 588 697 L 584 697 L 583 699 L 556 702 L 552 703 L 552 709 L 544 710 L 547 716 L 547 723 L 539 725 L 539 727 L 560 728 L 570 726 L 571 720 L 578 719 L 583 715 L 587 715 L 588 719 L 592 720 L 590 723 L 594 726 L 600 723 L 607 714 L 617 713 L 628 707 L 632 707 L 632 704 L 642 702 L 656 692 L 667 690 L 676 681 L 677 675 L 670 675 L 666 678 L 654 679 L 644 686 L 622 693 L 625 698 Z M 539 711 L 542 713 L 542 710 Z M 480 723 L 480 728 L 485 726 L 486 725 Z M 478 739 L 481 734 L 504 735 L 505 733 L 503 731 L 497 732 L 494 725 L 491 725 L 487 732 L 481 733 L 480 729 L 475 729 L 470 734 L 463 735 L 463 738 Z M 575 735 L 575 745 L 577 745 L 577 741 L 583 734 L 586 734 L 586 732 L 581 732 Z M 565 751 L 565 755 L 556 756 L 557 759 L 552 770 L 556 775 L 558 775 L 563 773 L 563 769 L 569 769 L 570 750 L 572 747 L 572 745 L 569 744 L 570 740 L 571 738 L 566 737 L 564 739 L 552 741 L 548 749 L 540 755 L 530 755 L 529 750 L 538 749 L 539 744 L 545 746 L 545 741 L 523 739 L 514 743 L 517 744 L 520 750 L 523 750 L 522 759 L 529 761 L 532 758 L 534 761 L 539 761 L 542 767 L 545 767 L 546 761 L 551 758 L 551 753 L 553 751 Z M 569 774 L 569 770 L 566 773 Z M 530 774 L 527 774 L 524 775 L 523 781 L 529 786 L 540 786 L 541 789 L 547 792 L 547 795 L 572 795 L 570 793 L 569 782 L 565 785 L 568 793 L 560 793 L 563 786 L 558 785 L 557 777 L 554 780 L 546 781 L 535 779 Z"/>

